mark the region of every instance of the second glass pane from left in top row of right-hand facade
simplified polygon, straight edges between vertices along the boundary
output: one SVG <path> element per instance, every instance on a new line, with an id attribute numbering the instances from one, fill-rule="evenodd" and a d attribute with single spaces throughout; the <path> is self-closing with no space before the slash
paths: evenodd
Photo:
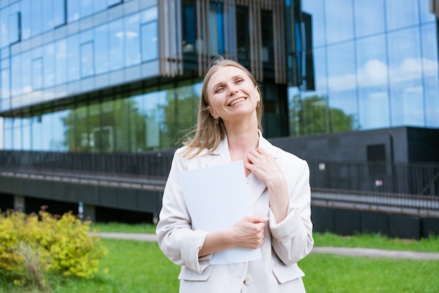
<path id="1" fill-rule="evenodd" d="M 346 0 L 326 0 L 325 27 L 327 43 L 352 39 L 352 2 Z"/>

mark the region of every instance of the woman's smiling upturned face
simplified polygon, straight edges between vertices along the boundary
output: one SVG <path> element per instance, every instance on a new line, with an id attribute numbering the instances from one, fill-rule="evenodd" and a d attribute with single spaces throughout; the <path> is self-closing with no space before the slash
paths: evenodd
<path id="1" fill-rule="evenodd" d="M 208 81 L 210 114 L 224 123 L 237 122 L 255 115 L 260 95 L 245 71 L 234 66 L 220 67 Z"/>

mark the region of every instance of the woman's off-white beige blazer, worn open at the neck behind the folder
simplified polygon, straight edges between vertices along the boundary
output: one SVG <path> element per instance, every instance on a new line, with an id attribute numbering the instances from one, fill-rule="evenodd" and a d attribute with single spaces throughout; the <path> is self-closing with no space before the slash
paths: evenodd
<path id="1" fill-rule="evenodd" d="M 261 247 L 262 259 L 241 264 L 210 265 L 212 254 L 198 257 L 208 232 L 191 229 L 191 218 L 179 177 L 184 170 L 230 163 L 227 137 L 213 154 L 207 156 L 202 156 L 208 152 L 207 149 L 193 159 L 183 158 L 182 149 L 175 152 L 156 233 L 158 245 L 166 257 L 182 266 L 178 277 L 180 292 L 305 292 L 302 282 L 304 273 L 297 266 L 297 261 L 306 257 L 313 248 L 309 166 L 297 156 L 274 147 L 260 132 L 259 137 L 259 147 L 269 151 L 283 170 L 290 204 L 288 217 L 277 223 L 269 207 L 266 185 L 250 175 L 248 188 L 253 213 L 269 217 L 269 224 L 266 225 L 265 242 Z"/>

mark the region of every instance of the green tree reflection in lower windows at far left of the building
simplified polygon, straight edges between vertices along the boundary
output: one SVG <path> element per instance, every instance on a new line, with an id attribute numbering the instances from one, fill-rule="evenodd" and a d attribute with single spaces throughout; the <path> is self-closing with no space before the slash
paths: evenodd
<path id="1" fill-rule="evenodd" d="M 121 99 L 72 109 L 62 118 L 69 151 L 139 151 L 145 123 L 134 100 Z"/>

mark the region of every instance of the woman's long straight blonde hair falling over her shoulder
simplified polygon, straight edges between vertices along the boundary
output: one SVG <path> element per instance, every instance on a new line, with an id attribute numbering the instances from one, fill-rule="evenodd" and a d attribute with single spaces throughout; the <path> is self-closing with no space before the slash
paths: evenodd
<path id="1" fill-rule="evenodd" d="M 215 57 L 209 64 L 208 72 L 205 74 L 203 79 L 203 89 L 201 90 L 200 106 L 198 109 L 197 125 L 194 126 L 186 137 L 186 142 L 184 145 L 187 146 L 183 151 L 183 156 L 188 158 L 194 158 L 196 155 L 200 154 L 203 149 L 210 149 L 208 154 L 211 154 L 218 147 L 219 142 L 226 136 L 226 128 L 221 118 L 218 119 L 218 124 L 212 117 L 209 111 L 209 97 L 208 97 L 208 83 L 218 69 L 226 66 L 234 66 L 247 74 L 252 80 L 253 84 L 257 86 L 257 81 L 255 77 L 243 67 L 243 65 L 235 62 L 233 60 L 224 59 L 222 56 Z M 256 108 L 257 114 L 257 127 L 262 131 L 262 112 L 264 107 L 262 106 L 262 95 L 257 86 L 257 91 L 261 97 L 259 102 L 259 107 Z M 194 138 L 189 136 L 195 132 Z"/>

